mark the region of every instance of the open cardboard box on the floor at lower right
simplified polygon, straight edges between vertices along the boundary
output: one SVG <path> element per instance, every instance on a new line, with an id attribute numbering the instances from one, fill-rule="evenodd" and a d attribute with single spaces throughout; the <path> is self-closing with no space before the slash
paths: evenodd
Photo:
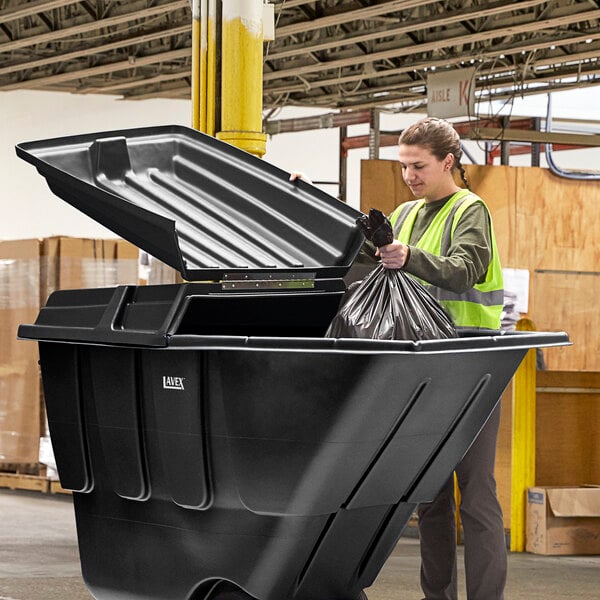
<path id="1" fill-rule="evenodd" d="M 526 550 L 600 554 L 600 486 L 529 488 Z"/>

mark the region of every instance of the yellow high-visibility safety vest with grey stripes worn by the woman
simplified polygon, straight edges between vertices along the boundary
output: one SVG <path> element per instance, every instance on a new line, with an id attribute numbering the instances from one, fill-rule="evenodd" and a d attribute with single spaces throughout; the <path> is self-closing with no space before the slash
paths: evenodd
<path id="1" fill-rule="evenodd" d="M 434 217 L 423 237 L 411 245 L 436 256 L 446 256 L 452 244 L 456 224 L 465 210 L 476 202 L 485 206 L 483 200 L 470 190 L 456 192 Z M 400 242 L 408 244 L 417 214 L 424 204 L 425 200 L 406 202 L 391 214 L 390 221 L 394 227 L 394 234 Z M 457 327 L 500 329 L 500 318 L 504 306 L 504 283 L 496 237 L 494 229 L 491 227 L 491 217 L 490 235 L 492 259 L 483 283 L 477 283 L 470 290 L 457 294 L 420 280 L 448 311 Z"/>

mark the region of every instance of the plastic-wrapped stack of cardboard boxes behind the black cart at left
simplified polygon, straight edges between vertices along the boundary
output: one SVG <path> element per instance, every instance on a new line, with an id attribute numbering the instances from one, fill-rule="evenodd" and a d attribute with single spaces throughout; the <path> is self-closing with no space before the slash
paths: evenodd
<path id="1" fill-rule="evenodd" d="M 138 262 L 138 249 L 118 239 L 0 242 L 0 463 L 37 463 L 47 435 L 37 345 L 17 340 L 18 326 L 55 290 L 137 284 Z"/>

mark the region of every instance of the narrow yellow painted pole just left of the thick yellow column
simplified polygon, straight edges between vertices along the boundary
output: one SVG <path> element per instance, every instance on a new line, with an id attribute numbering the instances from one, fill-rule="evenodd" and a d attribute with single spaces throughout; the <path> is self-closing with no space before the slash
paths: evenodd
<path id="1" fill-rule="evenodd" d="M 206 131 L 207 0 L 192 2 L 192 127 Z"/>

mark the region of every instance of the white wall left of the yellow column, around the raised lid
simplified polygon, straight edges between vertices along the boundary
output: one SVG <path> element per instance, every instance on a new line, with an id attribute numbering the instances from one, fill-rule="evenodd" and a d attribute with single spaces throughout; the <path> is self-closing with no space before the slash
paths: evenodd
<path id="1" fill-rule="evenodd" d="M 29 90 L 0 94 L 0 239 L 49 235 L 114 237 L 95 221 L 58 199 L 35 168 L 18 158 L 19 142 L 91 131 L 190 122 L 189 102 L 122 102 Z"/>

